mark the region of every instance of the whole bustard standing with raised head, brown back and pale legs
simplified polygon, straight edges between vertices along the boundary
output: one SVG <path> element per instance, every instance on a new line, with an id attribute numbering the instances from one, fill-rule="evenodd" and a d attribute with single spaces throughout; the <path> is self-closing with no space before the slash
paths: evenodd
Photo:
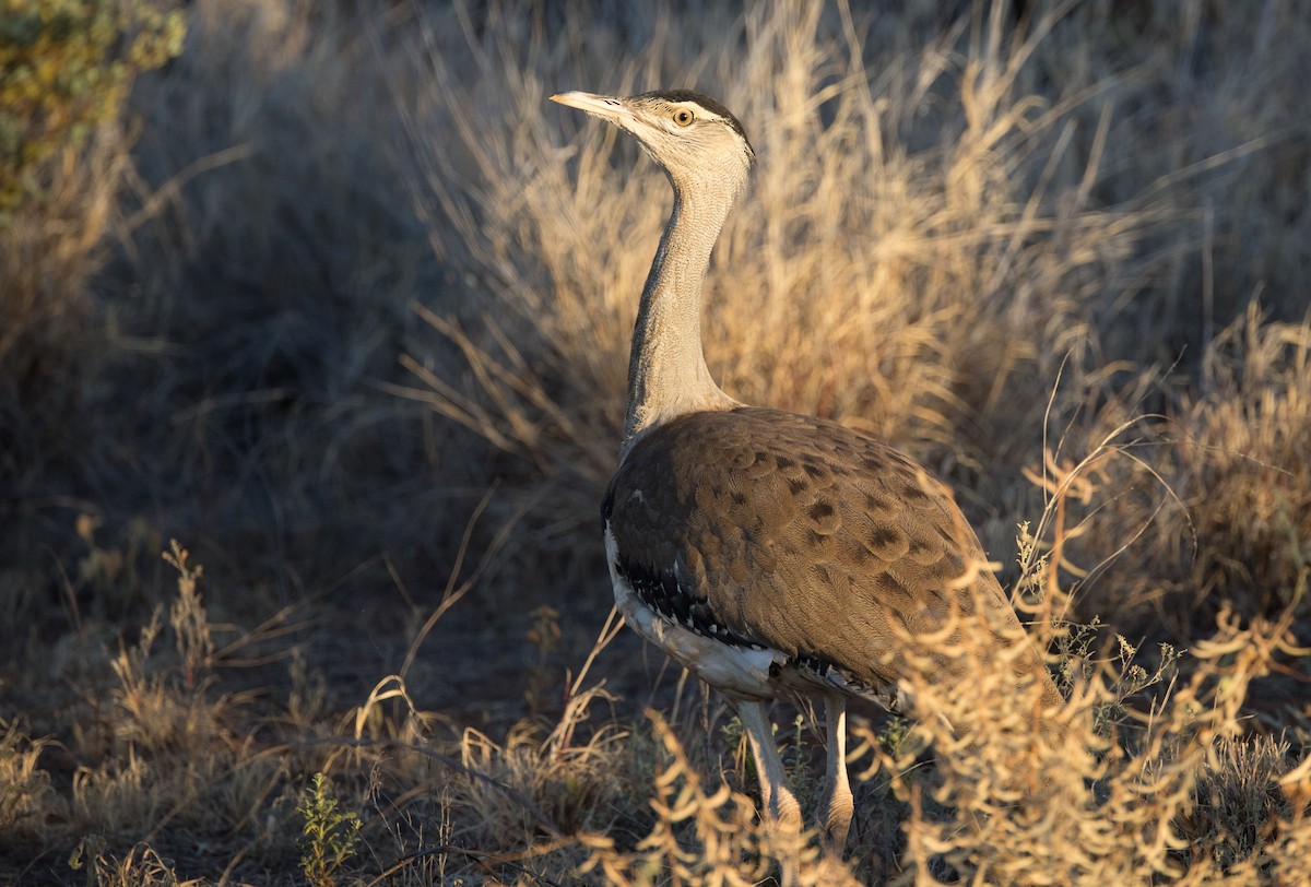
<path id="1" fill-rule="evenodd" d="M 818 820 L 840 852 L 852 816 L 850 696 L 889 704 L 911 667 L 903 632 L 982 605 L 1019 680 L 1061 702 L 950 493 L 886 443 L 835 422 L 746 406 L 711 379 L 701 282 L 755 160 L 742 124 L 690 90 L 568 92 L 674 186 L 633 330 L 620 464 L 602 504 L 615 601 L 636 632 L 718 689 L 749 736 L 764 814 L 800 825 L 764 705 L 822 700 L 829 763 Z M 1016 650 L 1013 645 L 1023 645 Z M 929 679 L 953 680 L 950 666 Z"/>

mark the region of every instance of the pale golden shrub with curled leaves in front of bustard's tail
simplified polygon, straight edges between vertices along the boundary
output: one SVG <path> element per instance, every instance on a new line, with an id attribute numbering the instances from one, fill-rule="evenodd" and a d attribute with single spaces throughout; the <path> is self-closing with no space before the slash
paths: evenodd
<path id="1" fill-rule="evenodd" d="M 1141 668 L 1131 650 L 1086 663 L 1047 736 L 1024 728 L 1038 693 L 1016 700 L 1006 663 L 981 660 L 960 683 L 909 681 L 918 742 L 898 753 L 867 742 L 910 804 L 906 858 L 916 883 L 935 883 L 929 873 L 943 866 L 1008 884 L 1261 878 L 1274 858 L 1253 835 L 1311 837 L 1298 829 L 1304 810 L 1281 795 L 1286 777 L 1302 778 L 1290 773 L 1287 748 L 1240 738 L 1248 685 L 1303 652 L 1291 624 L 1285 614 L 1240 628 L 1222 614 L 1218 634 L 1189 649 L 1186 677 L 1162 684 L 1146 709 L 1125 697 L 1141 685 L 1126 681 Z M 1038 637 L 1050 632 L 1038 625 Z M 979 635 L 962 626 L 960 637 L 950 655 L 977 660 Z M 943 655 L 941 635 L 914 643 L 924 660 Z M 1108 722 L 1108 710 L 1120 715 Z M 914 768 L 924 747 L 936 764 L 927 777 Z"/>

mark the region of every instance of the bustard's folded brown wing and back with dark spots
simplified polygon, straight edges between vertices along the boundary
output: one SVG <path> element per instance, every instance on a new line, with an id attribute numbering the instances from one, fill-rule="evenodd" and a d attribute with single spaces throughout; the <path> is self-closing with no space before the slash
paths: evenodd
<path id="1" fill-rule="evenodd" d="M 755 407 L 680 417 L 635 444 L 604 511 L 628 565 L 671 576 L 734 635 L 876 687 L 902 676 L 885 655 L 901 646 L 893 626 L 940 628 L 952 596 L 1019 624 L 991 573 L 973 595 L 952 591 L 983 552 L 947 487 L 832 422 Z"/>

